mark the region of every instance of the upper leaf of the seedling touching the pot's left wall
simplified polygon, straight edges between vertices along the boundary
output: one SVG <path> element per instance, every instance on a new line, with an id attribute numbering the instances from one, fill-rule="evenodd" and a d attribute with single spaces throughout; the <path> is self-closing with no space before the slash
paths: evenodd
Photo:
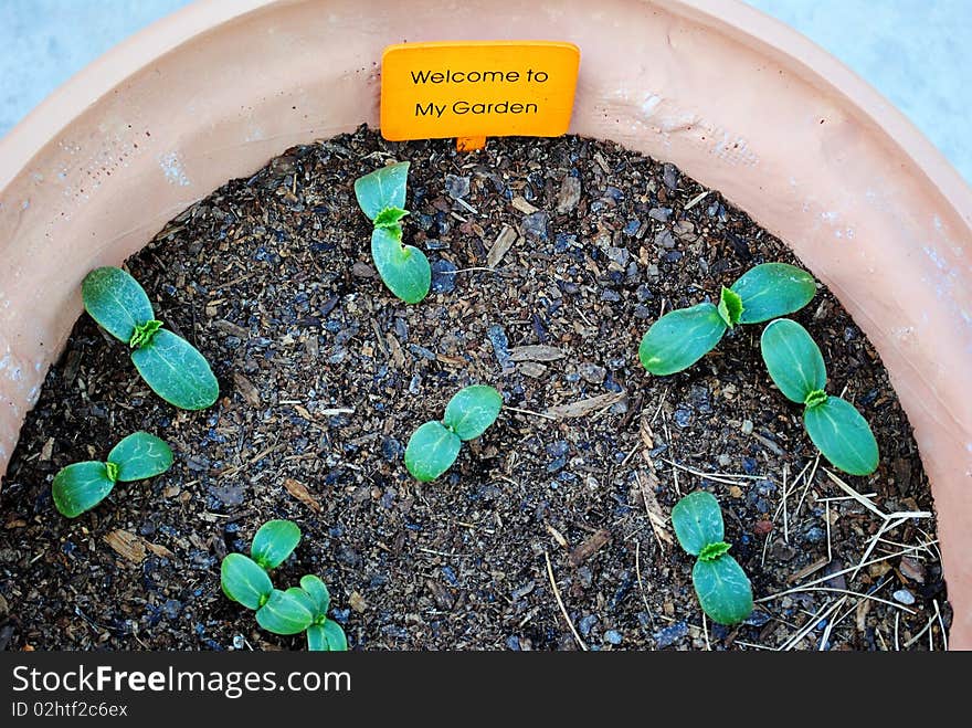
<path id="1" fill-rule="evenodd" d="M 84 309 L 116 339 L 128 344 L 135 328 L 155 318 L 151 302 L 138 281 L 122 268 L 95 268 L 81 284 Z"/>

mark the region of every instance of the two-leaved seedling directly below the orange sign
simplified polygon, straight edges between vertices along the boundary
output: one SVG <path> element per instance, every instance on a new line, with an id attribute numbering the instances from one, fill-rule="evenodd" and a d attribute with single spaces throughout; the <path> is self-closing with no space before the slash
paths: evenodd
<path id="1" fill-rule="evenodd" d="M 374 223 L 371 231 L 371 257 L 384 285 L 406 304 L 416 304 L 429 295 L 432 268 L 425 254 L 402 242 L 402 218 L 409 162 L 377 169 L 355 181 L 358 205 Z"/>

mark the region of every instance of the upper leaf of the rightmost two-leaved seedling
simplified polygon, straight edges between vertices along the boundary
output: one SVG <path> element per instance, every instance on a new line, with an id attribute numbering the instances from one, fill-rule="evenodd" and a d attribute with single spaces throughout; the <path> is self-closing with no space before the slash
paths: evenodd
<path id="1" fill-rule="evenodd" d="M 806 329 L 789 318 L 778 318 L 760 337 L 763 361 L 783 395 L 803 404 L 827 383 L 823 355 Z"/>

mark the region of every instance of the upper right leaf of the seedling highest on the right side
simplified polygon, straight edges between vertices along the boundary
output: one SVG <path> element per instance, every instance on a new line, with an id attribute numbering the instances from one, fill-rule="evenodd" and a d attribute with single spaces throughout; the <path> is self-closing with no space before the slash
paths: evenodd
<path id="1" fill-rule="evenodd" d="M 760 324 L 800 310 L 816 294 L 806 271 L 788 263 L 763 263 L 750 268 L 730 286 L 742 300 L 740 324 Z"/>

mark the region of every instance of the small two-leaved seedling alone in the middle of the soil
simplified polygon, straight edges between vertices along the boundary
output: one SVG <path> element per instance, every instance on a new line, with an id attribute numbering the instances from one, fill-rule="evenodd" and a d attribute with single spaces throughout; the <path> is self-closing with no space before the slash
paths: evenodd
<path id="1" fill-rule="evenodd" d="M 503 395 L 492 387 L 461 389 L 445 407 L 441 422 L 426 422 L 412 433 L 405 447 L 405 467 L 427 483 L 445 473 L 459 454 L 465 440 L 475 440 L 496 422 Z"/>

